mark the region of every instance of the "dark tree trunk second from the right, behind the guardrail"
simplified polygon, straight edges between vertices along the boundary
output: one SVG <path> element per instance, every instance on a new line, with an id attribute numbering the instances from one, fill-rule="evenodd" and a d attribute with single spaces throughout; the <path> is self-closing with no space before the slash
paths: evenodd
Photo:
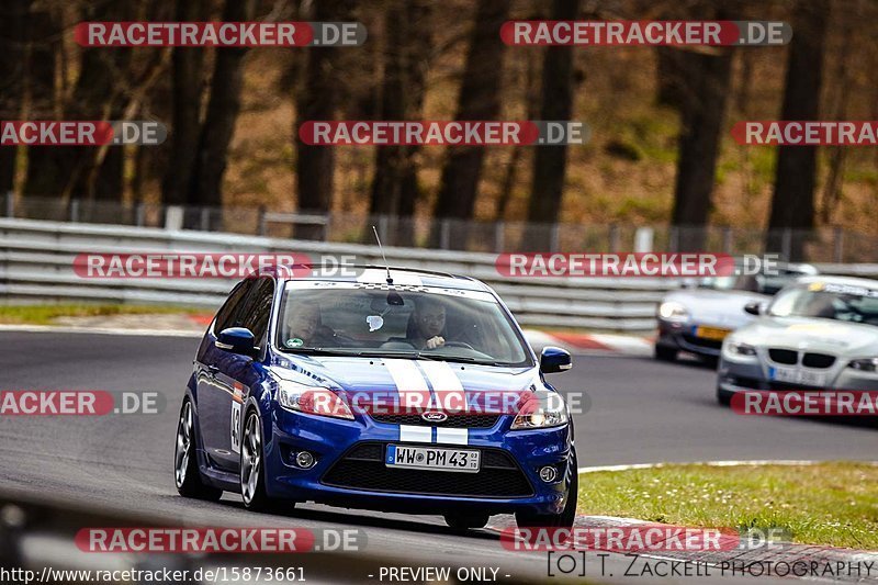
<path id="1" fill-rule="evenodd" d="M 680 250 L 701 250 L 706 244 L 732 70 L 731 49 L 718 50 L 718 55 L 682 55 L 683 71 L 691 85 L 680 94 L 679 161 L 672 214 Z"/>

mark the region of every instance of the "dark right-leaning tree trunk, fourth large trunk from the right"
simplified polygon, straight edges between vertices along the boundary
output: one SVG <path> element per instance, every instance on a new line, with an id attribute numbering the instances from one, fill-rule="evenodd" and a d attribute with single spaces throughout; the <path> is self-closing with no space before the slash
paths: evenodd
<path id="1" fill-rule="evenodd" d="M 508 18 L 510 3 L 479 1 L 455 120 L 496 120 L 499 114 L 504 44 L 498 42 L 498 31 Z M 449 147 L 434 210 L 437 220 L 472 218 L 484 157 L 483 146 Z M 430 239 L 434 245 L 438 243 L 438 227 Z"/>

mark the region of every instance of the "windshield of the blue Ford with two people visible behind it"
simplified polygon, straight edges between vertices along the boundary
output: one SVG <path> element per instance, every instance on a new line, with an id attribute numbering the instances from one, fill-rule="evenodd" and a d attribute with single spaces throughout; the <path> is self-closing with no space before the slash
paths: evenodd
<path id="1" fill-rule="evenodd" d="M 291 352 L 532 365 L 524 339 L 485 292 L 291 281 L 277 330 L 278 347 Z"/>

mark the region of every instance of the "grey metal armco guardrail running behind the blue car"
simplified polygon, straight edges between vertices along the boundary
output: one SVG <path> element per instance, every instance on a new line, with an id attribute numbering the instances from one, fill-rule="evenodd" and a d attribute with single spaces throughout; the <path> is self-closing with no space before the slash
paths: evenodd
<path id="1" fill-rule="evenodd" d="M 382 263 L 376 246 L 278 239 L 149 227 L 0 218 L 0 297 L 7 302 L 93 301 L 217 307 L 233 282 L 222 279 L 89 280 L 74 272 L 81 252 L 300 252 L 351 255 Z M 645 333 L 672 279 L 539 279 L 497 273 L 493 254 L 386 247 L 387 263 L 452 272 L 488 283 L 529 327 Z M 826 265 L 828 272 L 878 274 L 878 265 Z"/>

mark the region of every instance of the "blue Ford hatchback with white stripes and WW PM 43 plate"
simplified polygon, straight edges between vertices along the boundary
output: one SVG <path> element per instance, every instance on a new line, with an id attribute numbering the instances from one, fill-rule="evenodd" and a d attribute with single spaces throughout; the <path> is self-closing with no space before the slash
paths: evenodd
<path id="1" fill-rule="evenodd" d="M 438 514 L 455 529 L 494 514 L 572 526 L 573 420 L 543 375 L 570 369 L 570 355 L 545 348 L 538 361 L 477 280 L 352 272 L 272 270 L 235 286 L 187 384 L 179 493 L 236 492 L 254 510 L 316 502 Z M 465 406 L 441 400 L 453 393 Z M 498 393 L 520 400 L 486 406 Z M 393 400 L 418 394 L 423 408 Z"/>

